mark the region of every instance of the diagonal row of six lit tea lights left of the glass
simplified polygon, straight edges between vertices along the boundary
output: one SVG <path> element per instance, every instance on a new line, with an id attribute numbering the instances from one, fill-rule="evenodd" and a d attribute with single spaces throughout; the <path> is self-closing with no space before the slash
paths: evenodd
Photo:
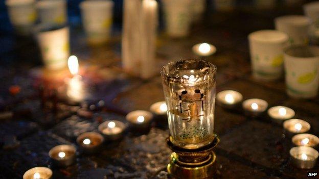
<path id="1" fill-rule="evenodd" d="M 166 115 L 167 106 L 165 101 L 154 103 L 150 111 L 132 111 L 126 115 L 132 130 L 143 131 L 149 129 L 154 116 Z M 104 140 L 118 140 L 122 138 L 126 125 L 118 120 L 108 120 L 98 126 L 97 132 L 86 132 L 77 137 L 79 148 L 88 154 L 98 151 Z M 57 145 L 50 149 L 49 157 L 53 163 L 59 167 L 70 166 L 76 159 L 76 147 L 74 145 Z M 29 169 L 23 175 L 24 179 L 49 179 L 52 176 L 52 170 L 47 167 L 34 167 Z"/>

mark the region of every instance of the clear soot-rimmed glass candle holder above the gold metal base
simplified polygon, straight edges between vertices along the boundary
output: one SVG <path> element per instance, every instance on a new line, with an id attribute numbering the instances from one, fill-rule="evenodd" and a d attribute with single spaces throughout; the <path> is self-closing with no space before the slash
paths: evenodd
<path id="1" fill-rule="evenodd" d="M 161 71 L 171 142 L 193 149 L 214 140 L 216 67 L 204 60 L 179 60 Z"/>

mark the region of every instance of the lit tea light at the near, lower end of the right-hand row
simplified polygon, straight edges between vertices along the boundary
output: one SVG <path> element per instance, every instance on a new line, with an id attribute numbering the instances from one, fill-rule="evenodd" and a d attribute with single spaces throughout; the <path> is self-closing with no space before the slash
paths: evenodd
<path id="1" fill-rule="evenodd" d="M 308 146 L 298 146 L 290 149 L 291 162 L 298 168 L 313 168 L 318 156 L 318 151 Z"/>

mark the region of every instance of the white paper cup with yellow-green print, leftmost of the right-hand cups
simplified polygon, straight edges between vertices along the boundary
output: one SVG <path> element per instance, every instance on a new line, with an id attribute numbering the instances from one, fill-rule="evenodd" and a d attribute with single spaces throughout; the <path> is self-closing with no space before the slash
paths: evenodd
<path id="1" fill-rule="evenodd" d="M 262 30 L 249 34 L 248 40 L 254 78 L 279 79 L 283 72 L 283 48 L 288 42 L 288 35 L 275 30 Z"/>

